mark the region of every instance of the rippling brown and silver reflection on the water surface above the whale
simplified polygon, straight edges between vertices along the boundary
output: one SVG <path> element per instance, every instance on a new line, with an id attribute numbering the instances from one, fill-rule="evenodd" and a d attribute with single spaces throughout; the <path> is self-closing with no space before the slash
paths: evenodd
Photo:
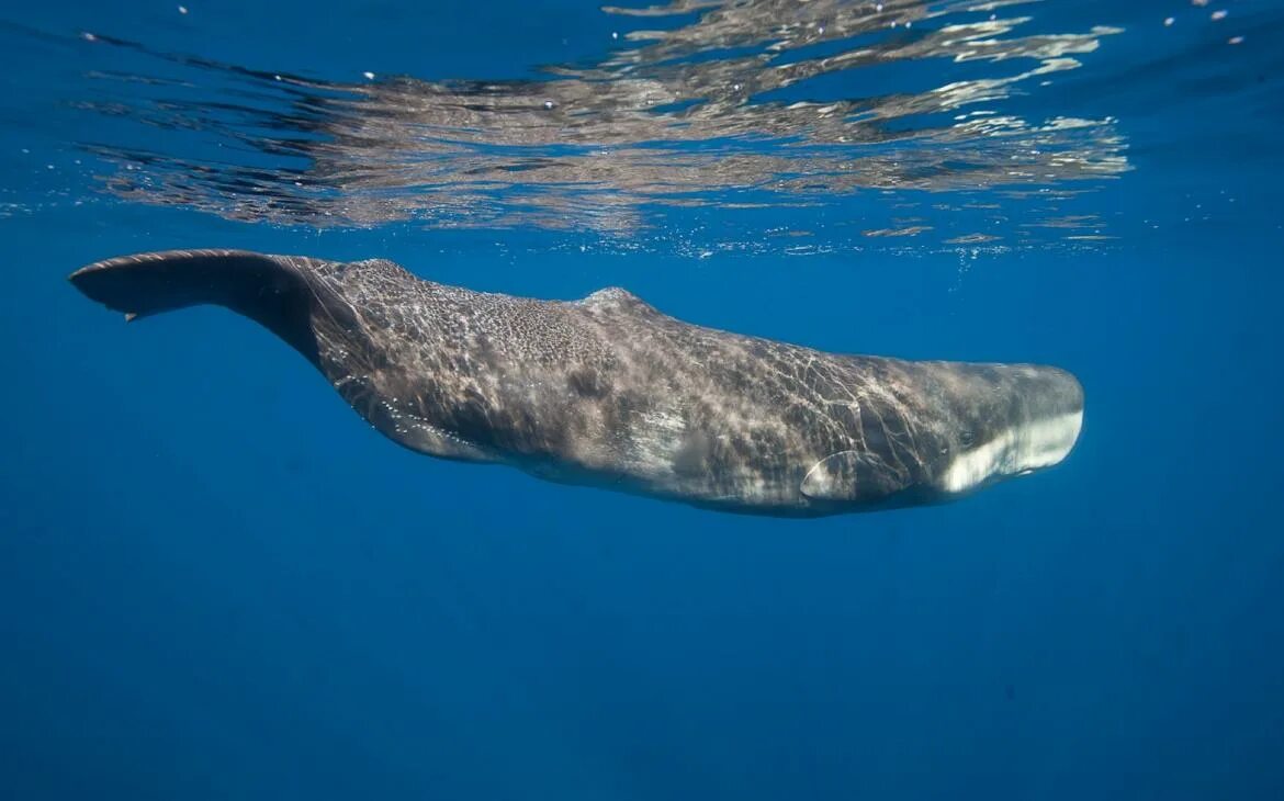
<path id="1" fill-rule="evenodd" d="M 1039 214 L 1048 200 L 1129 169 L 1111 117 L 1004 109 L 1013 95 L 1053 91 L 1053 78 L 1122 32 L 1023 32 L 1031 17 L 1018 12 L 1031 5 L 607 6 L 621 32 L 598 63 L 498 82 L 371 72 L 321 83 L 86 33 L 95 45 L 153 56 L 158 73 L 98 72 L 125 89 L 81 108 L 207 141 L 140 149 L 86 139 L 82 146 L 114 164 L 105 187 L 118 196 L 236 220 L 537 226 L 621 237 L 654 228 L 665 207 L 823 208 L 895 191 L 898 217 L 858 226 L 854 237 L 987 243 L 1004 239 L 987 228 L 1011 220 L 986 213 L 977 198 L 1022 190 L 1007 198 Z M 212 72 L 231 80 L 214 94 L 202 80 Z M 824 81 L 837 74 L 841 82 Z M 196 155 L 209 153 L 208 137 L 216 155 Z M 932 204 L 921 212 L 933 217 L 959 212 L 964 227 L 922 225 L 917 204 Z M 1102 228 L 1093 216 L 1018 222 L 1061 236 Z"/>

